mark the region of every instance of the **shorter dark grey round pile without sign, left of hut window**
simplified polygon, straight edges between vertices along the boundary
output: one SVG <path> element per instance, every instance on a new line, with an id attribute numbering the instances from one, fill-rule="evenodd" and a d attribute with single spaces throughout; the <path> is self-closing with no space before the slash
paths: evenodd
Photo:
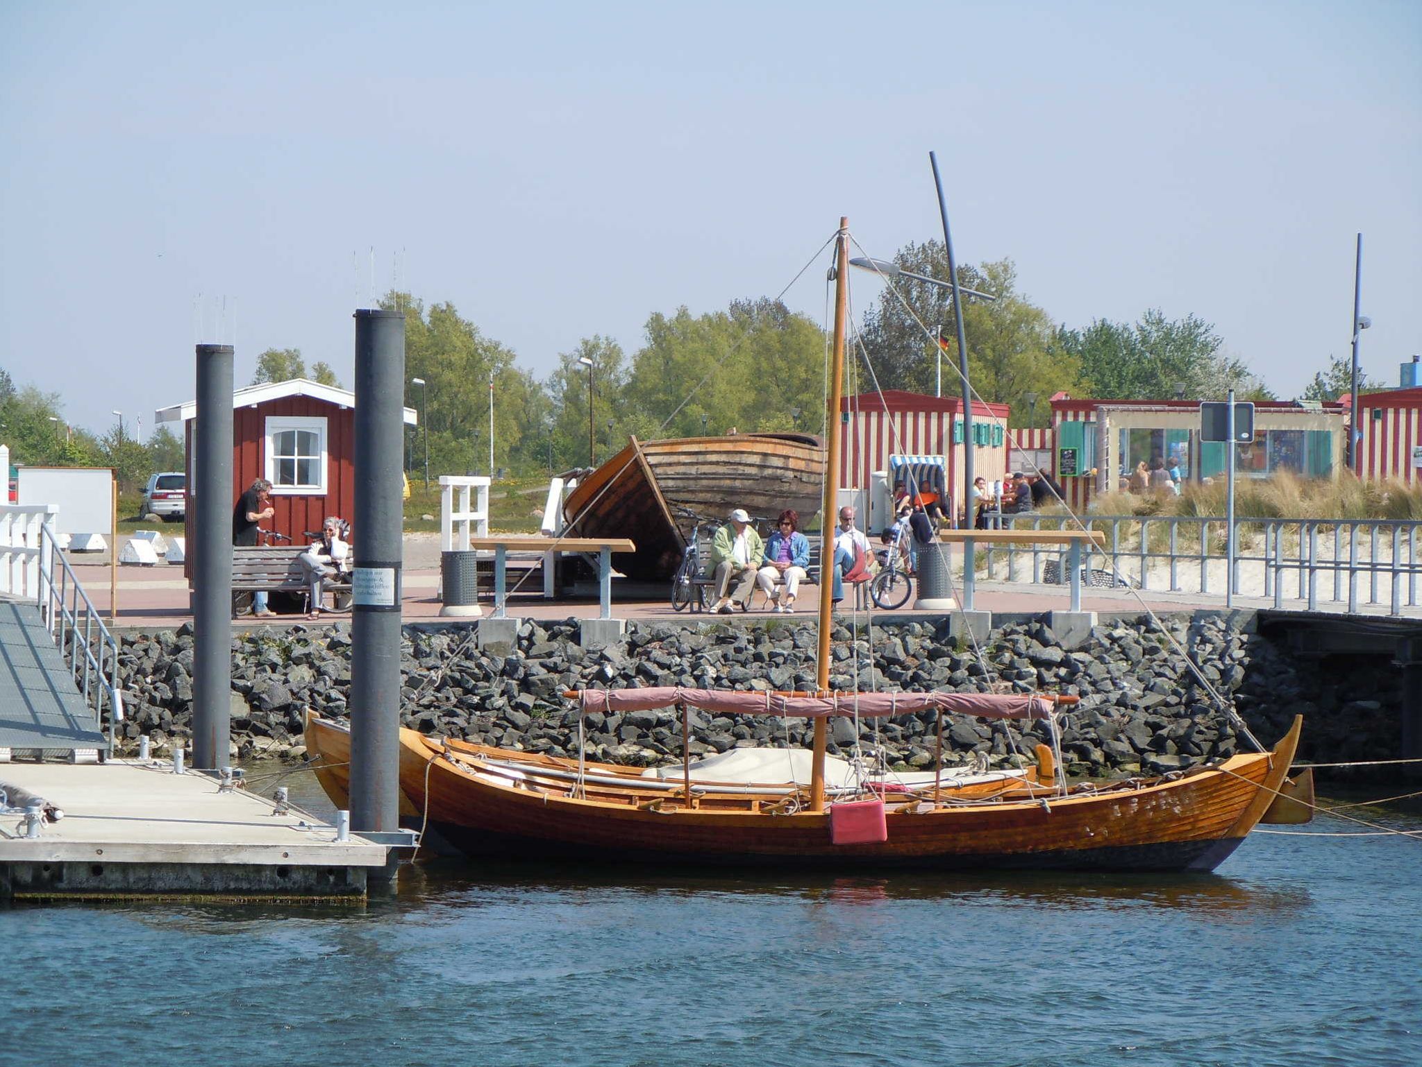
<path id="1" fill-rule="evenodd" d="M 192 766 L 203 770 L 228 762 L 232 733 L 232 345 L 198 345 Z"/>

